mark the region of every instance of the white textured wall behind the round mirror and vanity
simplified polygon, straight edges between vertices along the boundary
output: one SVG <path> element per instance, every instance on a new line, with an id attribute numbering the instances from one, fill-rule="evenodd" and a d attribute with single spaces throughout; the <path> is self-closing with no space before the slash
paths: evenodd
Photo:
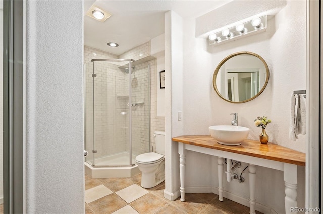
<path id="1" fill-rule="evenodd" d="M 230 14 L 230 11 L 226 13 Z M 208 25 L 207 22 L 199 24 Z M 292 93 L 294 90 L 306 88 L 306 2 L 288 1 L 285 8 L 273 19 L 268 20 L 266 32 L 219 46 L 209 47 L 205 38 L 195 38 L 194 26 L 194 19 L 183 21 L 183 88 L 172 88 L 170 95 L 173 101 L 174 96 L 178 96 L 181 90 L 184 91 L 183 134 L 209 134 L 210 125 L 228 125 L 232 120 L 230 113 L 239 113 L 239 125 L 250 128 L 248 138 L 259 140 L 261 130 L 254 126 L 254 119 L 265 115 L 273 121 L 267 126 L 271 142 L 305 152 L 305 136 L 301 135 L 297 141 L 291 141 L 288 138 L 288 131 Z M 173 47 L 172 43 L 172 49 Z M 266 89 L 256 99 L 247 103 L 233 104 L 222 100 L 216 94 L 212 86 L 212 76 L 222 59 L 240 51 L 260 55 L 269 66 L 270 80 Z M 172 57 L 176 58 L 174 55 Z M 177 73 L 178 69 L 172 68 L 172 73 L 174 72 Z M 173 84 L 172 79 L 172 86 Z M 172 113 L 171 118 L 174 119 L 176 109 L 179 109 L 177 103 L 175 105 L 172 103 L 172 112 L 166 113 Z M 172 134 L 181 132 L 179 129 L 181 125 L 173 122 Z M 189 152 L 186 158 L 187 189 L 194 191 L 195 187 L 199 187 L 205 190 L 203 186 L 206 189 L 217 186 L 216 162 L 212 157 Z M 203 167 L 200 167 L 201 162 Z M 243 163 L 243 166 L 246 164 Z M 304 207 L 305 168 L 298 167 L 298 169 L 297 200 L 298 206 Z M 262 167 L 257 167 L 257 172 L 257 202 L 273 208 L 278 213 L 285 212 L 283 173 Z M 225 190 L 247 199 L 249 190 L 246 174 L 244 174 L 245 183 L 238 183 L 237 180 L 230 184 L 225 183 Z"/>

